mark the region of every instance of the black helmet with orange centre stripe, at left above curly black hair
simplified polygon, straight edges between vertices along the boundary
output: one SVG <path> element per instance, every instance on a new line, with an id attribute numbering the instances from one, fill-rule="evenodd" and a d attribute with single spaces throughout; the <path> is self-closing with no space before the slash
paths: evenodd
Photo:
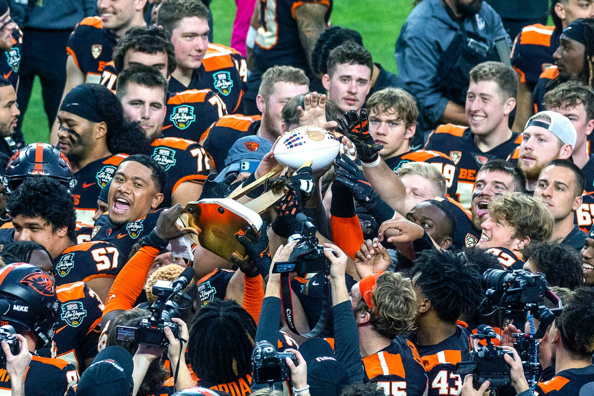
<path id="1" fill-rule="evenodd" d="M 30 176 L 49 176 L 71 192 L 76 185 L 72 166 L 66 156 L 47 143 L 31 143 L 18 150 L 8 161 L 2 185 L 10 194 Z"/>

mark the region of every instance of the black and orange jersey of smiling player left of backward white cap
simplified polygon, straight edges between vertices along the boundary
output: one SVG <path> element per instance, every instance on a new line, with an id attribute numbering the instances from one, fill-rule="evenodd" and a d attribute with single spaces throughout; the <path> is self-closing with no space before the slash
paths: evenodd
<path id="1" fill-rule="evenodd" d="M 425 150 L 441 151 L 456 164 L 460 170 L 458 176 L 457 201 L 469 209 L 472 191 L 475 188 L 476 173 L 486 161 L 496 158 L 506 159 L 511 151 L 520 144 L 521 135 L 514 133 L 511 138 L 497 147 L 483 153 L 474 141 L 474 135 L 466 126 L 447 123 L 431 132 L 425 144 Z"/>

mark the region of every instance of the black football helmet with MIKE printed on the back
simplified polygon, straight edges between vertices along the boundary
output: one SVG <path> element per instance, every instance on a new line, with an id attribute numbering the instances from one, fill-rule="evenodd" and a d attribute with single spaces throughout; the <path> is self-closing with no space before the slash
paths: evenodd
<path id="1" fill-rule="evenodd" d="M 60 306 L 56 287 L 41 268 L 16 262 L 0 270 L 0 322 L 35 334 L 36 349 L 52 342 Z"/>

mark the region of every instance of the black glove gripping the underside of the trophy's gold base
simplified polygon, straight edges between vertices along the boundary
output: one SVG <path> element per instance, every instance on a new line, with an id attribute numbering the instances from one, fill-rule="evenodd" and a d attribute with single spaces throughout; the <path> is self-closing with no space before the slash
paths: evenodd
<path id="1" fill-rule="evenodd" d="M 240 230 L 239 232 L 235 233 L 235 239 L 237 239 L 238 242 L 244 246 L 245 252 L 248 254 L 249 259 L 257 267 L 257 274 L 262 275 L 264 278 L 268 276 L 268 271 L 270 271 L 270 264 L 272 262 L 270 258 L 270 246 L 268 245 L 268 235 L 266 234 L 267 227 L 268 224 L 266 224 L 266 221 L 263 221 L 259 233 L 256 233 L 253 230 L 251 230 L 251 232 L 248 231 L 247 233 L 243 230 Z M 249 269 L 244 271 L 245 268 L 242 266 L 242 264 L 245 263 L 242 263 L 241 260 L 234 260 L 233 262 L 239 266 L 241 271 L 247 277 L 253 278 L 255 275 L 257 275 Z"/>

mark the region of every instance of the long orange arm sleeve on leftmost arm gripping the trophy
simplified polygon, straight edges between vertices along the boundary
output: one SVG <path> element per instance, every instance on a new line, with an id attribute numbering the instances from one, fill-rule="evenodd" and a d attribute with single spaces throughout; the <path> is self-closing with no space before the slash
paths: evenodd
<path id="1" fill-rule="evenodd" d="M 143 291 L 144 282 L 149 274 L 154 258 L 159 255 L 159 249 L 143 246 L 124 265 L 124 268 L 113 281 L 109 289 L 108 299 L 103 309 L 103 315 L 118 309 L 134 308 L 134 302 Z"/>

